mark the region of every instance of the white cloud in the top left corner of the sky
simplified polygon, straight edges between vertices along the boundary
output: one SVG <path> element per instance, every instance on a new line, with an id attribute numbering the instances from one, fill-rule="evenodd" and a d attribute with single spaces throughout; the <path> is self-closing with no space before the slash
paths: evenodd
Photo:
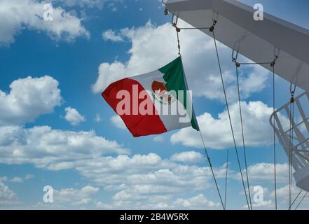
<path id="1" fill-rule="evenodd" d="M 10 45 L 15 35 L 23 27 L 38 31 L 46 31 L 55 41 L 73 41 L 74 38 L 85 36 L 89 32 L 81 25 L 81 20 L 70 15 L 62 8 L 53 8 L 53 21 L 43 20 L 44 2 L 35 0 L 2 0 L 0 1 L 0 45 Z"/>

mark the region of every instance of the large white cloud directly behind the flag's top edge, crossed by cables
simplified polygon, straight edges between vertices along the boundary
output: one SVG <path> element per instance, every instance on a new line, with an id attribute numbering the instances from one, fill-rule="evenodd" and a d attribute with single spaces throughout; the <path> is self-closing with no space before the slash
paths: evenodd
<path id="1" fill-rule="evenodd" d="M 180 21 L 181 27 L 188 27 Z M 144 27 L 121 29 L 117 36 L 128 38 L 132 42 L 128 62 L 102 63 L 99 65 L 99 76 L 92 85 L 92 92 L 100 93 L 111 82 L 141 73 L 156 70 L 177 57 L 177 37 L 170 23 L 156 27 L 147 22 Z M 181 52 L 188 85 L 193 95 L 208 99 L 224 101 L 221 78 L 212 38 L 201 31 L 181 31 Z M 231 62 L 231 49 L 218 44 L 222 59 L 222 69 L 228 100 L 238 98 L 235 78 L 235 64 Z M 245 60 L 245 59 L 244 59 Z M 247 59 L 246 59 L 247 60 Z M 242 72 L 245 69 L 247 72 Z M 242 66 L 240 68 L 240 91 L 242 99 L 265 87 L 268 71 L 259 66 Z M 205 87 L 206 86 L 206 87 Z"/>

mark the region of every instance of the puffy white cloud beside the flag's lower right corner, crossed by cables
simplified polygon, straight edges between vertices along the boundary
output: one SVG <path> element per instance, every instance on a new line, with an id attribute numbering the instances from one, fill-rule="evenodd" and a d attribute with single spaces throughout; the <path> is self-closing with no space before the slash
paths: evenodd
<path id="1" fill-rule="evenodd" d="M 262 102 L 241 102 L 241 104 L 246 146 L 262 146 L 272 143 L 273 130 L 270 127 L 269 118 L 273 109 Z M 238 146 L 242 146 L 238 103 L 230 106 L 230 113 L 236 142 Z M 221 149 L 233 146 L 227 111 L 219 113 L 217 119 L 207 112 L 198 116 L 197 119 L 207 147 Z M 198 132 L 191 127 L 172 134 L 170 140 L 172 144 L 181 143 L 184 146 L 202 147 Z"/>

